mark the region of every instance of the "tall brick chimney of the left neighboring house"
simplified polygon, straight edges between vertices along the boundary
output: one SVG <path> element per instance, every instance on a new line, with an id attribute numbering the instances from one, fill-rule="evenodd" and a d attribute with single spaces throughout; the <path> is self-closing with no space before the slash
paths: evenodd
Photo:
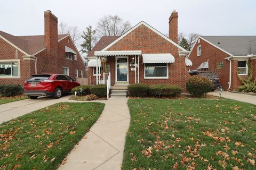
<path id="1" fill-rule="evenodd" d="M 58 18 L 50 10 L 44 11 L 44 42 L 47 55 L 58 54 Z"/>

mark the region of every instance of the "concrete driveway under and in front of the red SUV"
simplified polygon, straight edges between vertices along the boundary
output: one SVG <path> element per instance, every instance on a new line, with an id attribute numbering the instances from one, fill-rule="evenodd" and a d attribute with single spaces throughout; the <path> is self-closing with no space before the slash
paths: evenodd
<path id="1" fill-rule="evenodd" d="M 37 99 L 25 99 L 0 105 L 0 124 L 13 118 L 37 111 L 38 109 L 60 102 L 84 102 L 69 100 L 72 95 L 65 95 L 59 99 L 52 97 L 38 97 Z M 99 101 L 105 103 L 106 100 Z"/>

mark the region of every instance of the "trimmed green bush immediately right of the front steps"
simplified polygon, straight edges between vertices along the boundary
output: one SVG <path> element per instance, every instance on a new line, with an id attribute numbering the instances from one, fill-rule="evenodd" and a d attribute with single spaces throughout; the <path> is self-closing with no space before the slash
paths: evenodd
<path id="1" fill-rule="evenodd" d="M 143 97 L 148 95 L 148 85 L 138 83 L 138 84 L 130 84 L 128 86 L 128 91 L 130 96 L 134 97 Z"/>

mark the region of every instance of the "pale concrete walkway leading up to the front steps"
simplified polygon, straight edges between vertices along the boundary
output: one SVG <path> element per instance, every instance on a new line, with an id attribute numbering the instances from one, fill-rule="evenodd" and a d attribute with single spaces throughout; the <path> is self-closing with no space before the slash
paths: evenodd
<path id="1" fill-rule="evenodd" d="M 85 137 L 67 156 L 62 169 L 121 169 L 126 131 L 130 124 L 128 98 L 110 98 Z"/>

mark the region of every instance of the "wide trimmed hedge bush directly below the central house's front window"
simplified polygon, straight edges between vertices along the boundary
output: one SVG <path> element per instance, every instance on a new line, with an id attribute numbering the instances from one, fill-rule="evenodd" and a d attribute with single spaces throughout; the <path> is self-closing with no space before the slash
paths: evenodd
<path id="1" fill-rule="evenodd" d="M 148 94 L 151 96 L 178 96 L 182 88 L 169 84 L 152 84 L 149 86 Z"/>

